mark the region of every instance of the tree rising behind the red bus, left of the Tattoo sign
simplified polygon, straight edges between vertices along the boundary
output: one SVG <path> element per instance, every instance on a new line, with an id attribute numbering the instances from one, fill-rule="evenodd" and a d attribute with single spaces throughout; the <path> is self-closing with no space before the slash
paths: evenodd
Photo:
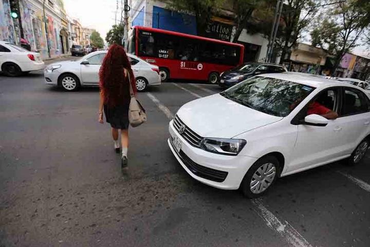
<path id="1" fill-rule="evenodd" d="M 199 36 L 205 36 L 205 30 L 211 21 L 212 15 L 222 6 L 225 0 L 173 0 L 168 4 L 168 8 L 194 14 L 197 32 Z"/>

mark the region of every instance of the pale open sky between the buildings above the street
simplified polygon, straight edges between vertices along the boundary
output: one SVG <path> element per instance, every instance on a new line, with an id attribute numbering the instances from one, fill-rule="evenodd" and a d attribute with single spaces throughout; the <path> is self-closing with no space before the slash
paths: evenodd
<path id="1" fill-rule="evenodd" d="M 116 0 L 64 0 L 67 14 L 79 19 L 83 27 L 96 29 L 104 40 L 115 24 L 116 4 Z M 120 17 L 117 14 L 118 21 Z"/>

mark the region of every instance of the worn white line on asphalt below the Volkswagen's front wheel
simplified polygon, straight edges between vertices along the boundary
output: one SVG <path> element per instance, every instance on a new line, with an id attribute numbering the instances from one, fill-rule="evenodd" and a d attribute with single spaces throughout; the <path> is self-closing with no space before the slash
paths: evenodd
<path id="1" fill-rule="evenodd" d="M 257 214 L 266 221 L 268 227 L 278 232 L 290 246 L 293 247 L 312 247 L 304 237 L 297 232 L 287 221 L 282 223 L 274 216 L 261 202 L 261 200 L 253 199 L 252 203 L 258 209 Z"/>

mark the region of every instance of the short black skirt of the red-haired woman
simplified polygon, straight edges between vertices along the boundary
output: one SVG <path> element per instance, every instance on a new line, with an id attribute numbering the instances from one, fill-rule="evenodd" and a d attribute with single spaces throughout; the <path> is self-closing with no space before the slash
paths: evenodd
<path id="1" fill-rule="evenodd" d="M 115 129 L 126 130 L 130 123 L 128 122 L 128 104 L 109 107 L 104 104 L 104 114 L 106 122 L 110 123 Z"/>

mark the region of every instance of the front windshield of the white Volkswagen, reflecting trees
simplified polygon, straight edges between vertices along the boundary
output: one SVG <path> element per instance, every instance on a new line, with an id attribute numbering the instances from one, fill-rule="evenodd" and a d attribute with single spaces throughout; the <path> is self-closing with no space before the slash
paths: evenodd
<path id="1" fill-rule="evenodd" d="M 315 87 L 291 81 L 254 77 L 221 95 L 254 110 L 285 117 L 313 90 Z"/>

